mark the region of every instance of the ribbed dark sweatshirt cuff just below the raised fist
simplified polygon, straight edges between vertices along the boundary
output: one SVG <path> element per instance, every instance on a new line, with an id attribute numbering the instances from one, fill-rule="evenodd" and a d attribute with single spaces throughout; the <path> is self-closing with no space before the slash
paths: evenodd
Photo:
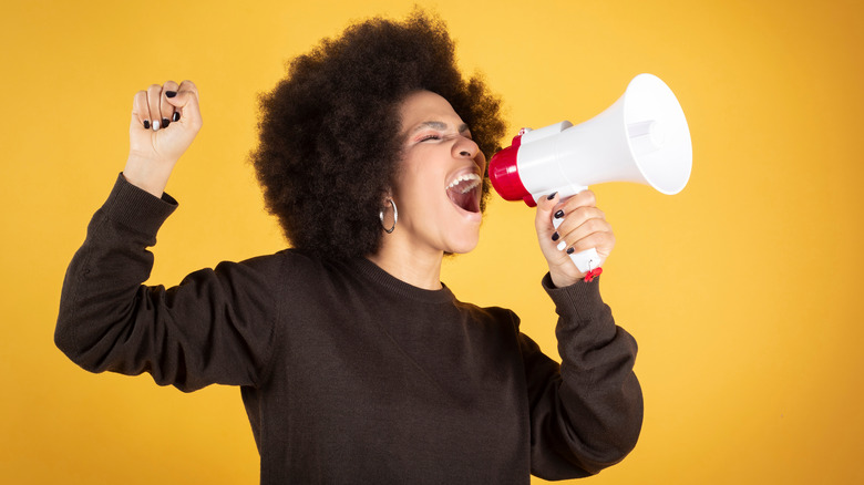
<path id="1" fill-rule="evenodd" d="M 155 237 L 177 206 L 177 200 L 168 194 L 158 198 L 130 184 L 121 173 L 103 207 L 107 218 L 114 223 Z"/>

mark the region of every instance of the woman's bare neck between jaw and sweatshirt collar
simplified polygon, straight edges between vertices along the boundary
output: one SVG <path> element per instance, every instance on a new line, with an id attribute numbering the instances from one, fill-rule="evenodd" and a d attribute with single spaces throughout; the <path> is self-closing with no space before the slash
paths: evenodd
<path id="1" fill-rule="evenodd" d="M 395 241 L 393 241 L 395 242 Z M 424 290 L 441 289 L 441 251 L 415 251 L 403 245 L 385 241 L 367 259 L 394 278 Z"/>

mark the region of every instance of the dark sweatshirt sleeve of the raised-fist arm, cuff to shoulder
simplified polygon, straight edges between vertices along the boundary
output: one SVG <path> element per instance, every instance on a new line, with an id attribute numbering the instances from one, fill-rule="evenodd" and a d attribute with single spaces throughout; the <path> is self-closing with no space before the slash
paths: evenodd
<path id="1" fill-rule="evenodd" d="M 270 354 L 276 265 L 223 262 L 174 288 L 143 286 L 147 247 L 176 207 L 120 175 L 66 269 L 54 342 L 91 372 L 150 372 L 185 392 L 255 385 Z"/>

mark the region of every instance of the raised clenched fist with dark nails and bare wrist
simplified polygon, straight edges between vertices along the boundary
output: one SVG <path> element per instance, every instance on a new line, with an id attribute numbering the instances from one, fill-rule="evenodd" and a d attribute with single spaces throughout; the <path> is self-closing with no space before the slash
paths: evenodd
<path id="1" fill-rule="evenodd" d="M 123 176 L 161 197 L 174 165 L 202 127 L 198 89 L 192 81 L 153 84 L 135 93 Z"/>

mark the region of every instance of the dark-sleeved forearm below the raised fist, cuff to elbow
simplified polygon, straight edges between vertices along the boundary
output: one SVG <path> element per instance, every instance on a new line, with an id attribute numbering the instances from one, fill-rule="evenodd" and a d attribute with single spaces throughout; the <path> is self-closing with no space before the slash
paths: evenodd
<path id="1" fill-rule="evenodd" d="M 119 179 L 93 216 L 66 270 L 54 334 L 58 347 L 84 369 L 142 371 L 112 368 L 125 360 L 123 345 L 114 342 L 122 342 L 134 324 L 146 291 L 141 285 L 153 266 L 146 247 L 155 244 L 156 230 L 175 207 L 168 196 L 148 197 Z"/>

